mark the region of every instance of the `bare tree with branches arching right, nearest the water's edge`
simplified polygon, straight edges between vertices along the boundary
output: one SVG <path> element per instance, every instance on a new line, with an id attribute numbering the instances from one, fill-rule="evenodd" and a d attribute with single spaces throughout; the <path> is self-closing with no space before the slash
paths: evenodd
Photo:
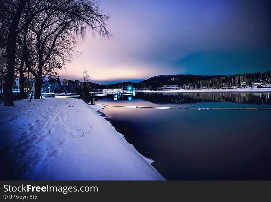
<path id="1" fill-rule="evenodd" d="M 76 1 L 69 4 L 66 10 L 69 12 L 52 9 L 39 13 L 30 26 L 37 38 L 38 66 L 36 71 L 29 66 L 36 78 L 35 99 L 40 97 L 45 65 L 61 69 L 75 52 L 78 38 L 84 38 L 88 30 L 106 37 L 110 35 L 105 28 L 108 15 L 101 15 L 96 2 Z"/>

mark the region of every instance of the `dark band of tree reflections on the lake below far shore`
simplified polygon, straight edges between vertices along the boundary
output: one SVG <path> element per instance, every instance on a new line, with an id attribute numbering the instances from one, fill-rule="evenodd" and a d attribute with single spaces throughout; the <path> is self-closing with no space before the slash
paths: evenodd
<path id="1" fill-rule="evenodd" d="M 135 98 L 156 104 L 193 104 L 199 102 L 271 104 L 271 93 L 137 93 Z"/>

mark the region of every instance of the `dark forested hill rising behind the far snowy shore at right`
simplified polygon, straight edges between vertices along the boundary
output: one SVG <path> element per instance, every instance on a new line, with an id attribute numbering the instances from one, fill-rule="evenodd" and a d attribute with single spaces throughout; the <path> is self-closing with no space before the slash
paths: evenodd
<path id="1" fill-rule="evenodd" d="M 109 85 L 95 84 L 96 89 L 102 88 L 157 88 L 163 85 L 178 85 L 181 87 L 189 86 L 190 88 L 220 88 L 220 87 L 241 87 L 242 83 L 252 85 L 253 82 L 262 84 L 270 83 L 271 72 L 243 73 L 235 75 L 195 75 L 195 74 L 175 74 L 154 76 L 138 83 L 122 82 Z"/>

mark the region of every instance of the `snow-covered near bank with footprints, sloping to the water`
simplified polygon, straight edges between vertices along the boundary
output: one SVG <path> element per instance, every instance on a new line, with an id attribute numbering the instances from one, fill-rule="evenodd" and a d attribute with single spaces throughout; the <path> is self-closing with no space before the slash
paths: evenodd
<path id="1" fill-rule="evenodd" d="M 1 179 L 164 180 L 97 110 L 75 98 L 0 106 Z"/>

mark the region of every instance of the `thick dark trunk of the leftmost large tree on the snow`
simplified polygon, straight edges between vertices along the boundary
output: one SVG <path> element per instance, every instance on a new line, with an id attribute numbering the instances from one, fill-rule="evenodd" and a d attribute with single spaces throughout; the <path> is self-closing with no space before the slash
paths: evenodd
<path id="1" fill-rule="evenodd" d="M 14 13 L 14 17 L 11 20 L 9 28 L 9 35 L 6 44 L 6 73 L 4 76 L 4 86 L 3 86 L 5 106 L 13 105 L 12 86 L 15 71 L 16 38 L 18 36 L 16 30 L 18 29 L 18 24 L 25 4 L 26 0 L 21 0 L 19 2 L 18 10 Z"/>

